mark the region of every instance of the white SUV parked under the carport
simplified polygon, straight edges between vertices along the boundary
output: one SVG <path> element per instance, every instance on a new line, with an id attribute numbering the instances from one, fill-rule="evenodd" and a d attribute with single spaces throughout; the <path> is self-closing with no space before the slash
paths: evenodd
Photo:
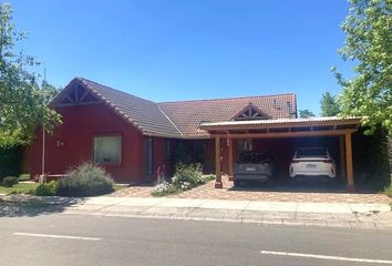
<path id="1" fill-rule="evenodd" d="M 337 176 L 337 165 L 326 147 L 305 147 L 296 152 L 290 164 L 290 177 Z"/>

